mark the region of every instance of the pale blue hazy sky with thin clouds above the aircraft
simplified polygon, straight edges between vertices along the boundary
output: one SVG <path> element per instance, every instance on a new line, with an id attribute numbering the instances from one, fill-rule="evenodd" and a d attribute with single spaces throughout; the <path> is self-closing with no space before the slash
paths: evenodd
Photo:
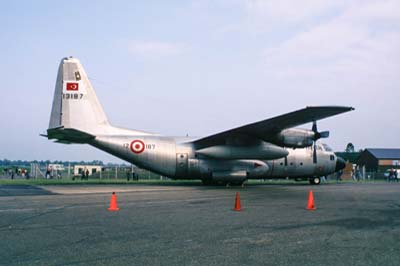
<path id="1" fill-rule="evenodd" d="M 71 55 L 117 126 L 204 136 L 347 105 L 319 123 L 335 150 L 400 147 L 398 0 L 16 0 L 0 27 L 0 158 L 118 161 L 39 137 Z"/>

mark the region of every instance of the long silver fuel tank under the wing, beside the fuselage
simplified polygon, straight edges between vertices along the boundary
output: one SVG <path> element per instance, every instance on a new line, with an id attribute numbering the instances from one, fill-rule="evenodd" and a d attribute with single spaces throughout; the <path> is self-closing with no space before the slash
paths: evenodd
<path id="1" fill-rule="evenodd" d="M 277 145 L 261 142 L 252 146 L 217 145 L 196 151 L 196 154 L 205 155 L 215 159 L 278 159 L 287 156 L 286 149 Z"/>

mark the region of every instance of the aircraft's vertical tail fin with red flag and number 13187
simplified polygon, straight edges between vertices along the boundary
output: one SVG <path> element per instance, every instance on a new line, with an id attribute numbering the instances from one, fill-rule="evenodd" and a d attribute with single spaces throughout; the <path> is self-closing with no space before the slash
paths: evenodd
<path id="1" fill-rule="evenodd" d="M 97 99 L 92 84 L 81 63 L 76 58 L 63 58 L 58 68 L 53 106 L 51 110 L 48 138 L 59 139 L 67 132 L 96 135 L 111 128 Z M 59 134 L 60 130 L 67 130 Z M 57 134 L 55 134 L 58 132 Z M 82 135 L 82 134 L 80 134 Z M 76 139 L 77 134 L 74 134 Z M 73 142 L 76 142 L 72 140 Z"/>

